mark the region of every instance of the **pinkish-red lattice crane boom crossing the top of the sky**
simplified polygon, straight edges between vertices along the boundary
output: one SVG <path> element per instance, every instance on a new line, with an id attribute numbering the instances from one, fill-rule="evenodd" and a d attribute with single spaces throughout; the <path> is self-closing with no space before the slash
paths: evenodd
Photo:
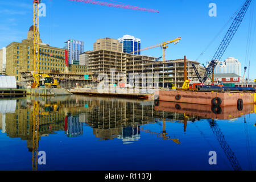
<path id="1" fill-rule="evenodd" d="M 101 1 L 93 1 L 93 0 L 69 0 L 69 1 L 84 2 L 84 3 L 94 4 L 94 5 L 110 6 L 110 7 L 118 7 L 118 8 L 122 8 L 122 9 L 130 9 L 130 10 L 139 10 L 139 11 L 148 11 L 148 12 L 152 12 L 152 13 L 159 13 L 158 10 L 154 10 L 154 9 L 147 9 L 147 8 L 142 8 L 142 7 L 137 7 L 137 6 L 130 6 L 130 5 L 119 5 L 119 4 L 101 2 Z"/>

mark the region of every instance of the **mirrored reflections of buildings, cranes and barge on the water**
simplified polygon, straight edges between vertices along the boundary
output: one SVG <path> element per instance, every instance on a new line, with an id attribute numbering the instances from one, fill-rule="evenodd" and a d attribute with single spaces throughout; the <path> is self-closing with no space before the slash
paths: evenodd
<path id="1" fill-rule="evenodd" d="M 32 168 L 37 169 L 40 140 L 50 134 L 75 139 L 85 134 L 84 126 L 89 126 L 98 140 L 117 139 L 130 144 L 141 140 L 142 133 L 147 133 L 155 139 L 171 140 L 172 144 L 179 145 L 183 140 L 175 136 L 173 129 L 167 129 L 167 122 L 180 123 L 183 129 L 179 132 L 186 133 L 189 121 L 206 119 L 233 169 L 241 170 L 236 155 L 214 119 L 233 121 L 255 113 L 255 108 L 253 104 L 243 105 L 241 109 L 162 101 L 155 105 L 154 101 L 75 95 L 27 96 L 18 100 L 0 100 L 0 129 L 9 138 L 26 140 L 28 151 L 33 156 Z M 152 130 L 148 127 L 150 123 L 160 126 L 160 130 Z M 246 144 L 249 146 L 249 142 Z"/>

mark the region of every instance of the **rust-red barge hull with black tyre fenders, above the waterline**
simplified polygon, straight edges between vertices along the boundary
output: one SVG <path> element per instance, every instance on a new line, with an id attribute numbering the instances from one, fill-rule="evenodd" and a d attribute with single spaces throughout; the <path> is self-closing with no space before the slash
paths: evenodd
<path id="1" fill-rule="evenodd" d="M 212 105 L 215 98 L 221 101 L 220 106 L 237 105 L 238 100 L 243 104 L 253 104 L 255 93 L 246 92 L 189 92 L 189 91 L 169 91 L 161 90 L 155 93 L 155 98 L 159 101 L 181 102 L 190 104 Z M 159 97 L 157 97 L 159 96 Z"/>

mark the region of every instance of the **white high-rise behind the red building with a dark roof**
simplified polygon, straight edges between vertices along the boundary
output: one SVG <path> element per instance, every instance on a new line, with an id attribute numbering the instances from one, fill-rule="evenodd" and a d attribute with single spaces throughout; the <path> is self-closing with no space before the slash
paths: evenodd
<path id="1" fill-rule="evenodd" d="M 218 61 L 214 73 L 236 73 L 241 76 L 241 63 L 234 57 L 228 57 L 225 61 Z"/>

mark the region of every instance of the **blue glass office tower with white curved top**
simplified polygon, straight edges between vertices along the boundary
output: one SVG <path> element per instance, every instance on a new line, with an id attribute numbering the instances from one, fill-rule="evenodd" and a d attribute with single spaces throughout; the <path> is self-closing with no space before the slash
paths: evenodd
<path id="1" fill-rule="evenodd" d="M 141 39 L 135 38 L 131 35 L 123 35 L 118 39 L 119 43 L 123 44 L 123 52 L 131 53 L 141 49 Z M 141 55 L 141 52 L 135 52 L 134 55 Z"/>

